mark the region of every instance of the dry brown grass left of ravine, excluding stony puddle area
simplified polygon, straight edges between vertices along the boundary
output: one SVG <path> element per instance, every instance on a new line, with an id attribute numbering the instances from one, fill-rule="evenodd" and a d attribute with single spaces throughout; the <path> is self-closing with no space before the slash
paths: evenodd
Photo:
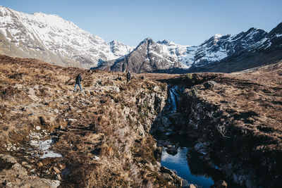
<path id="1" fill-rule="evenodd" d="M 124 73 L 89 73 L 8 56 L 0 56 L 0 70 L 1 153 L 7 152 L 7 143 L 25 146 L 27 134 L 40 126 L 59 138 L 54 150 L 63 155 L 63 161 L 52 163 L 63 163 L 70 172 L 63 177 L 62 187 L 168 185 L 160 173 L 154 173 L 157 166 L 145 168 L 155 163 L 154 141 L 144 127 L 157 115 L 147 110 L 154 109 L 151 98 L 157 82 L 135 76 L 126 84 Z M 73 93 L 78 73 L 82 73 L 84 92 Z M 165 84 L 159 85 L 165 95 Z M 60 125 L 64 131 L 58 130 Z"/>

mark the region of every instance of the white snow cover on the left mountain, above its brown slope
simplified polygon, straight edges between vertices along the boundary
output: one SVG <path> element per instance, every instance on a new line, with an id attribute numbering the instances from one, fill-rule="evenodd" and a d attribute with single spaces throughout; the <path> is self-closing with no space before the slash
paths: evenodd
<path id="1" fill-rule="evenodd" d="M 132 49 L 116 42 L 122 45 L 115 46 L 115 51 L 118 51 L 115 53 L 101 37 L 80 29 L 58 15 L 27 14 L 4 6 L 0 6 L 0 32 L 17 46 L 23 44 L 29 49 L 47 49 L 60 58 L 67 56 L 91 66 L 97 65 L 99 58 L 103 61 L 116 59 Z"/>

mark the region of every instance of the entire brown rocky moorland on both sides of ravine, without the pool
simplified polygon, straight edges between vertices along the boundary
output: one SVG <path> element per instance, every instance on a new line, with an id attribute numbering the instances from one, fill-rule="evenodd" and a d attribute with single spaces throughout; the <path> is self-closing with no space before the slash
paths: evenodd
<path id="1" fill-rule="evenodd" d="M 2 187 L 197 186 L 161 165 L 163 135 L 222 184 L 281 186 L 281 62 L 241 73 L 133 74 L 0 56 Z M 82 74 L 82 92 L 73 92 Z M 194 168 L 201 168 L 195 165 Z M 225 183 L 223 183 L 225 182 Z"/>

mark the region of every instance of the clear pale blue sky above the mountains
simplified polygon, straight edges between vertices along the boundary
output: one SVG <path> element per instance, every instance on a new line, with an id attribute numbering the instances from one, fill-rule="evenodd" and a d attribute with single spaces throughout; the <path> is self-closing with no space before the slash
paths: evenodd
<path id="1" fill-rule="evenodd" d="M 24 13 L 56 14 L 106 42 L 137 46 L 146 37 L 198 45 L 214 34 L 257 27 L 269 32 L 282 22 L 281 0 L 0 0 Z"/>

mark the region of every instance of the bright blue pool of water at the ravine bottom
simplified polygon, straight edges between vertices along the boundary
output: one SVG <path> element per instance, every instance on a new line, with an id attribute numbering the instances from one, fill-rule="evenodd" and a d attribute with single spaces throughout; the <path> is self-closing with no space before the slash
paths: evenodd
<path id="1" fill-rule="evenodd" d="M 176 171 L 176 174 L 187 180 L 189 184 L 197 184 L 198 187 L 210 187 L 214 184 L 214 180 L 209 175 L 196 175 L 191 173 L 187 153 L 188 147 L 178 148 L 178 153 L 172 156 L 166 152 L 166 149 L 162 151 L 161 165 Z"/>

